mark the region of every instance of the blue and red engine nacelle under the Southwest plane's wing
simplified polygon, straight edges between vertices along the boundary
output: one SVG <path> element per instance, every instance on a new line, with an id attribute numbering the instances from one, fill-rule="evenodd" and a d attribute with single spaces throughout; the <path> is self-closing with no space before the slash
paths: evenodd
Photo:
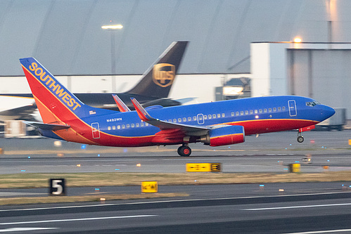
<path id="1" fill-rule="evenodd" d="M 210 146 L 232 145 L 244 141 L 245 131 L 243 126 L 224 126 L 212 129 L 207 135 L 201 136 L 201 142 Z"/>

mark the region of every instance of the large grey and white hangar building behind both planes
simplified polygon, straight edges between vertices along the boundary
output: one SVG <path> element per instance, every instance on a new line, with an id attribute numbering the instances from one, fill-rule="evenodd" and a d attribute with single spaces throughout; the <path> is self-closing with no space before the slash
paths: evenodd
<path id="1" fill-rule="evenodd" d="M 127 91 L 172 41 L 190 41 L 170 98 L 217 100 L 250 79 L 251 96 L 309 96 L 351 119 L 350 11 L 347 0 L 0 1 L 0 93 L 30 92 L 18 60 L 30 56 L 73 92 Z"/>

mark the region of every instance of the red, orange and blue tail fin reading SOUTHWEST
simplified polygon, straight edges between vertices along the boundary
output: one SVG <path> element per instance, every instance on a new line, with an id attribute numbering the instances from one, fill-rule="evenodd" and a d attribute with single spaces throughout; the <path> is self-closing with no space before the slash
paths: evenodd
<path id="1" fill-rule="evenodd" d="M 46 129 L 51 128 L 50 124 L 57 128 L 74 119 L 113 112 L 84 105 L 35 58 L 21 58 L 20 63 Z"/>

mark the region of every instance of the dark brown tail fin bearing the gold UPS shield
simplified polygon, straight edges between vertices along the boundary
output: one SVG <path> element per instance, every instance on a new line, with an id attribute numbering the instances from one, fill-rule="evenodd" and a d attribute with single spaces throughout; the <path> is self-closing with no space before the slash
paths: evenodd
<path id="1" fill-rule="evenodd" d="M 139 84 L 127 93 L 167 98 L 188 43 L 189 41 L 174 41 L 144 72 Z"/>

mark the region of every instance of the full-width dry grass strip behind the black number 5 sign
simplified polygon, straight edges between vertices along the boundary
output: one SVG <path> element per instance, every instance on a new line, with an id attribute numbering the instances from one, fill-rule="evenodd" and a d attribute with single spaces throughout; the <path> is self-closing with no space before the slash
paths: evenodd
<path id="1" fill-rule="evenodd" d="M 66 186 L 141 186 L 142 181 L 158 185 L 214 183 L 287 183 L 351 181 L 351 171 L 323 173 L 71 173 L 71 174 L 2 174 L 0 188 L 48 188 L 49 178 L 65 178 Z"/>

